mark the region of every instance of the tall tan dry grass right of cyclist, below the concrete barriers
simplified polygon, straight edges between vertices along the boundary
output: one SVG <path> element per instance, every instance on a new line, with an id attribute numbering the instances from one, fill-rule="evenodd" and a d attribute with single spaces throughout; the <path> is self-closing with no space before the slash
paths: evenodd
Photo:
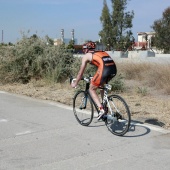
<path id="1" fill-rule="evenodd" d="M 170 94 L 170 64 L 118 63 L 118 70 L 127 80 L 139 81 L 141 86 Z"/>

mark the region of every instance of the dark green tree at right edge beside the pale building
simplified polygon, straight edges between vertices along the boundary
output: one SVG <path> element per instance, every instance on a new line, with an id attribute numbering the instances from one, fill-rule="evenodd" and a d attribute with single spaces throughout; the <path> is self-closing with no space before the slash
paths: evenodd
<path id="1" fill-rule="evenodd" d="M 165 54 L 170 53 L 170 7 L 165 9 L 161 19 L 154 21 L 151 28 L 155 31 L 153 45 Z"/>

